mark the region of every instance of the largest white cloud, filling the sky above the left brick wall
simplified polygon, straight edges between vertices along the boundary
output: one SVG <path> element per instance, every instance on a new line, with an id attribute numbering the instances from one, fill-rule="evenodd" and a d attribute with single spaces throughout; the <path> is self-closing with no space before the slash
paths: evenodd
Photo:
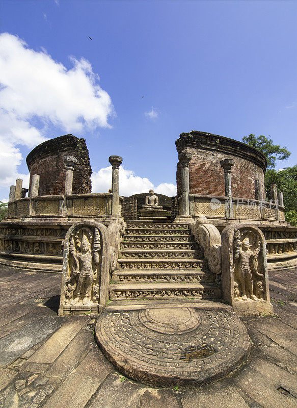
<path id="1" fill-rule="evenodd" d="M 0 187 L 21 176 L 17 145 L 32 148 L 43 142 L 49 126 L 59 127 L 61 133 L 110 127 L 114 109 L 109 94 L 98 85 L 98 75 L 89 61 L 70 60 L 73 67 L 67 70 L 44 49 L 36 52 L 20 38 L 1 34 Z"/>

